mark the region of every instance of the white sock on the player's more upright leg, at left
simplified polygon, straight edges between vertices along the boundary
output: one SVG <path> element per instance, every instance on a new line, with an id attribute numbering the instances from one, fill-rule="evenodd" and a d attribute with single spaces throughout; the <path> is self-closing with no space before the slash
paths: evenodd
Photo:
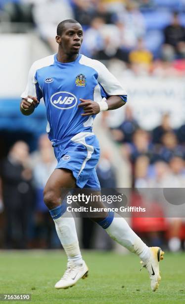
<path id="1" fill-rule="evenodd" d="M 54 220 L 56 232 L 67 254 L 68 261 L 73 261 L 76 265 L 81 265 L 83 259 L 80 252 L 75 221 L 72 216 L 71 218 L 65 216 L 66 213 Z M 69 213 L 67 216 L 69 216 Z"/>

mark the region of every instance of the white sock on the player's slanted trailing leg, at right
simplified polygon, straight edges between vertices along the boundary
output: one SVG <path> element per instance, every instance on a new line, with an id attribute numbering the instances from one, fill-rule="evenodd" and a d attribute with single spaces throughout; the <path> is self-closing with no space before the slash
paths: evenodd
<path id="1" fill-rule="evenodd" d="M 140 237 L 130 228 L 125 219 L 114 217 L 112 223 L 105 229 L 109 236 L 131 252 L 139 255 L 145 263 L 150 257 L 149 247 Z"/>

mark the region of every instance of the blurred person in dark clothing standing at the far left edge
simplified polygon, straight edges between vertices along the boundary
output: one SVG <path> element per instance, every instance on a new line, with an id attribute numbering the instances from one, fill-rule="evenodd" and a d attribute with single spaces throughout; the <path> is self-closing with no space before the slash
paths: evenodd
<path id="1" fill-rule="evenodd" d="M 2 200 L 5 212 L 5 245 L 28 248 L 29 228 L 35 202 L 29 148 L 16 142 L 0 166 Z"/>

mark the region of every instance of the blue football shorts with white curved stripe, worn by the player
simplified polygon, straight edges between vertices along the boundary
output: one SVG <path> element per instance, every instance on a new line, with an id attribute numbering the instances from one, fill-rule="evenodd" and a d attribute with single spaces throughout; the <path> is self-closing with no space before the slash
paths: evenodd
<path id="1" fill-rule="evenodd" d="M 95 166 L 99 160 L 99 142 L 90 132 L 81 132 L 54 147 L 57 168 L 73 172 L 80 188 L 100 190 Z"/>

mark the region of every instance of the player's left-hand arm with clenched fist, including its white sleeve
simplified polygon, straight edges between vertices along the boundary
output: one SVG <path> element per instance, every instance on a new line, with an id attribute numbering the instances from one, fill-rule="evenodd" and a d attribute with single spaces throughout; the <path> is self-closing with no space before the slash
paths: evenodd
<path id="1" fill-rule="evenodd" d="M 21 94 L 20 111 L 23 115 L 31 115 L 43 97 L 39 83 L 36 79 L 36 62 L 32 65 L 28 75 L 28 83 Z"/>

